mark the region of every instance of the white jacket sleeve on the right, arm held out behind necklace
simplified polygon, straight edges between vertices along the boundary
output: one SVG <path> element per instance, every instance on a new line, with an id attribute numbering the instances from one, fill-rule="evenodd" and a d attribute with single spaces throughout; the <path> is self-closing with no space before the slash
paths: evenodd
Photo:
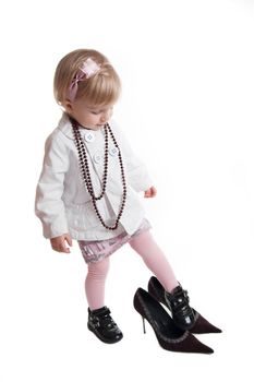
<path id="1" fill-rule="evenodd" d="M 128 139 L 116 123 L 117 140 L 119 141 L 120 150 L 123 152 L 123 166 L 128 176 L 130 186 L 136 191 L 146 191 L 153 186 L 153 180 L 149 177 L 145 164 L 135 155 Z"/>

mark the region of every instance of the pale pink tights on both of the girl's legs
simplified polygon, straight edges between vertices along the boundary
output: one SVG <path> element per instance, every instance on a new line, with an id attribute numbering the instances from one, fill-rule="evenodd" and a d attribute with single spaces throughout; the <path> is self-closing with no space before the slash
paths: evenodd
<path id="1" fill-rule="evenodd" d="M 179 285 L 173 270 L 149 230 L 132 238 L 129 243 L 142 256 L 146 266 L 159 279 L 166 290 L 171 291 Z M 88 264 L 85 291 L 90 310 L 105 306 L 105 282 L 108 271 L 109 256 Z"/>

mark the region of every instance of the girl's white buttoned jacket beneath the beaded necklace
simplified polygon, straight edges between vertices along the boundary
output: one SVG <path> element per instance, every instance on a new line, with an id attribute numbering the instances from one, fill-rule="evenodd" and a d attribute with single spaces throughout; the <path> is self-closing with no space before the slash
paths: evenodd
<path id="1" fill-rule="evenodd" d="M 46 238 L 66 232 L 76 240 L 104 240 L 125 230 L 132 235 L 144 218 L 137 192 L 152 187 L 145 166 L 135 157 L 114 122 L 110 122 L 121 150 L 126 179 L 126 203 L 117 230 L 106 229 L 99 222 L 89 193 L 81 177 L 77 150 L 72 126 L 65 114 L 48 136 L 45 145 L 43 171 L 36 190 L 35 212 L 40 218 Z M 81 129 L 87 151 L 95 194 L 101 191 L 104 175 L 104 129 Z M 108 180 L 104 198 L 97 201 L 102 219 L 113 225 L 122 196 L 121 171 L 116 150 L 109 135 Z"/>

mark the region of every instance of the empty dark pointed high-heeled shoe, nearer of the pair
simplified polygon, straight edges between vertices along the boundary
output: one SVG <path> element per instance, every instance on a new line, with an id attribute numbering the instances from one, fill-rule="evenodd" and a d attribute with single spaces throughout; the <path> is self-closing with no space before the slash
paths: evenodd
<path id="1" fill-rule="evenodd" d="M 214 350 L 202 344 L 190 332 L 179 329 L 162 306 L 146 290 L 138 288 L 134 295 L 133 305 L 143 318 L 153 327 L 159 345 L 170 351 L 211 354 Z"/>

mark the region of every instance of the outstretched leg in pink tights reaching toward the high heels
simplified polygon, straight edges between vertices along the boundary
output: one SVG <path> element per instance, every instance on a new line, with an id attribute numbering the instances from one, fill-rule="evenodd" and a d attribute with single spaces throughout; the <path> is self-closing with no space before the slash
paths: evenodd
<path id="1" fill-rule="evenodd" d="M 148 230 L 135 236 L 129 243 L 142 256 L 167 291 L 170 293 L 179 285 L 166 255 Z"/>

